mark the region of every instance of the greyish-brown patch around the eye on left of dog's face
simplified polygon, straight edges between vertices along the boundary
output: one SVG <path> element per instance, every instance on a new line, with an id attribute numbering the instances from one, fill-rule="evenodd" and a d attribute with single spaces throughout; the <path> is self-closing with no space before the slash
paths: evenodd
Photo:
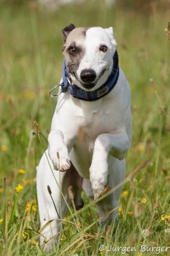
<path id="1" fill-rule="evenodd" d="M 66 42 L 62 47 L 62 52 L 66 58 L 66 67 L 69 73 L 75 74 L 85 54 L 86 31 L 89 28 L 75 28 L 67 34 Z"/>

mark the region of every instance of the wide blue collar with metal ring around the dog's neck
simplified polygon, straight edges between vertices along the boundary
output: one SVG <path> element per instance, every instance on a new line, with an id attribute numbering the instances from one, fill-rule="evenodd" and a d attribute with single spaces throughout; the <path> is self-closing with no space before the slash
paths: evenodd
<path id="1" fill-rule="evenodd" d="M 73 95 L 73 97 L 80 100 L 98 100 L 108 94 L 115 87 L 115 85 L 117 84 L 118 76 L 119 67 L 117 51 L 115 51 L 115 54 L 113 55 L 113 68 L 111 70 L 110 76 L 108 77 L 108 80 L 106 81 L 106 83 L 104 83 L 102 86 L 94 91 L 82 90 L 81 88 L 76 86 L 76 84 L 69 83 L 69 81 L 71 81 L 71 77 L 70 74 L 67 72 L 66 60 L 64 60 L 64 64 L 62 67 L 62 83 L 60 84 L 61 92 L 64 93 L 68 90 L 69 93 Z"/>

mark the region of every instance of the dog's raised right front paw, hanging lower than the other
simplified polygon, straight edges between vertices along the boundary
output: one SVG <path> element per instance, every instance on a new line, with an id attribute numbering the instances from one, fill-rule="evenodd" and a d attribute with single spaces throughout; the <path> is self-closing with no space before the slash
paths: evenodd
<path id="1" fill-rule="evenodd" d="M 94 193 L 94 199 L 103 195 L 108 178 L 108 164 L 96 163 L 90 166 L 90 182 Z"/>

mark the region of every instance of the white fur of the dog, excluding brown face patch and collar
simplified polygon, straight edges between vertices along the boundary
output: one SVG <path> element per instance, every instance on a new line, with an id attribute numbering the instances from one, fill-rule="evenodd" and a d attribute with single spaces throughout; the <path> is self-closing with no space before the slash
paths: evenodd
<path id="1" fill-rule="evenodd" d="M 104 80 L 106 81 L 113 65 L 112 58 L 116 45 L 113 30 L 111 28 L 91 28 L 87 31 L 87 37 L 83 44 L 85 44 L 86 53 L 81 60 L 78 75 L 83 68 L 94 68 L 99 75 L 103 66 L 108 67 L 107 76 L 100 79 L 96 85 L 97 88 L 103 84 Z M 108 45 L 108 52 L 99 52 L 100 44 Z M 124 180 L 124 156 L 130 147 L 131 138 L 131 90 L 121 68 L 115 88 L 99 100 L 87 102 L 75 99 L 69 92 L 61 93 L 53 115 L 52 129 L 48 136 L 49 147 L 38 166 L 37 191 L 41 227 L 48 220 L 57 218 L 57 213 L 46 189 L 48 185 L 52 189 L 52 195 L 58 211 L 61 212 L 61 217 L 64 216 L 67 209 L 63 198 L 62 209 L 60 209 L 60 192 L 52 175 L 53 172 L 59 183 L 59 172 L 56 171 L 59 170 L 57 152 L 60 156 L 60 170 L 69 169 L 71 161 L 80 177 L 83 178 L 82 186 L 80 182 L 80 186 L 77 188 L 83 189 L 87 196 L 97 198 L 105 185 L 113 188 Z M 68 204 L 70 200 L 67 196 L 67 186 L 78 180 L 69 175 L 69 172 L 70 170 L 60 172 L 62 192 Z M 108 212 L 117 207 L 121 191 L 122 188 L 117 189 L 112 195 L 97 204 L 99 216 L 102 217 L 100 223 L 108 218 L 113 218 L 113 216 L 117 217 L 117 211 L 113 212 L 111 216 L 108 216 Z M 80 201 L 80 199 L 79 196 L 77 200 Z M 59 230 L 59 221 L 53 221 L 53 224 L 43 231 L 43 235 L 49 239 Z M 41 239 L 41 243 L 42 241 L 43 239 Z M 50 249 L 52 242 L 50 241 L 46 246 Z"/>

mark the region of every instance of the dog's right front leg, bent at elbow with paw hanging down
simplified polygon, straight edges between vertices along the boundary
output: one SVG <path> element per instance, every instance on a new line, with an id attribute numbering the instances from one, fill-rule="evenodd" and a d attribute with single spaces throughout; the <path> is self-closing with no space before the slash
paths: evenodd
<path id="1" fill-rule="evenodd" d="M 126 132 L 118 134 L 101 134 L 94 143 L 94 154 L 90 166 L 90 182 L 97 198 L 104 189 L 108 178 L 108 155 L 124 159 L 125 152 L 130 147 Z"/>

